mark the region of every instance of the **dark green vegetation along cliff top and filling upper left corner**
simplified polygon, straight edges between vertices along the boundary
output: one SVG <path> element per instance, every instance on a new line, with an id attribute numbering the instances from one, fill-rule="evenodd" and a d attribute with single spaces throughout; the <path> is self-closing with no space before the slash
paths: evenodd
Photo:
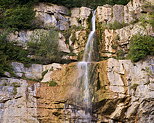
<path id="1" fill-rule="evenodd" d="M 130 0 L 0 0 L 0 28 L 32 29 L 35 12 L 33 5 L 38 2 L 49 2 L 66 7 L 87 6 L 96 8 L 104 4 L 127 4 Z"/>

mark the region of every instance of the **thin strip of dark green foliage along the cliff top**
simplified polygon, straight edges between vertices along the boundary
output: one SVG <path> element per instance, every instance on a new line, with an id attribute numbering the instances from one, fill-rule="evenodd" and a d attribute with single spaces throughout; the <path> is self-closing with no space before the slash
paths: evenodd
<path id="1" fill-rule="evenodd" d="M 64 5 L 66 7 L 81 7 L 87 6 L 96 8 L 97 6 L 104 4 L 122 4 L 126 5 L 130 0 L 0 0 L 0 5 L 3 7 L 9 7 L 9 5 L 14 6 L 16 4 L 22 5 L 27 3 L 37 3 L 37 2 L 49 2 L 59 5 Z"/>

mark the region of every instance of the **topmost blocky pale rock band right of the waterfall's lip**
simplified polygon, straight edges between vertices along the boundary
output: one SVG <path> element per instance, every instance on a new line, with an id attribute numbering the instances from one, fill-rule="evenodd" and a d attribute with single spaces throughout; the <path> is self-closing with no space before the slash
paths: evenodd
<path id="1" fill-rule="evenodd" d="M 98 6 L 96 11 L 98 22 L 113 23 L 130 23 L 135 21 L 142 12 L 142 5 L 145 1 L 132 0 L 127 5 L 104 5 Z"/>

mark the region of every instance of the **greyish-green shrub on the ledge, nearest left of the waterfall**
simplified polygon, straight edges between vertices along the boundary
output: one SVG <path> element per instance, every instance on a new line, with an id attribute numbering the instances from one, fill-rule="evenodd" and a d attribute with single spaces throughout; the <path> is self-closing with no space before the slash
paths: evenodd
<path id="1" fill-rule="evenodd" d="M 31 37 L 28 42 L 28 51 L 31 55 L 35 55 L 35 60 L 47 64 L 51 62 L 58 62 L 62 53 L 59 51 L 58 32 L 51 30 L 49 32 L 37 32 Z"/>

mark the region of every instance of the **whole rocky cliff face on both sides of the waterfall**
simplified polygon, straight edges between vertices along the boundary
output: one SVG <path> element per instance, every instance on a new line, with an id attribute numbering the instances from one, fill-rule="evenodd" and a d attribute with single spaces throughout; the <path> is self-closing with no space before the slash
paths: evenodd
<path id="1" fill-rule="evenodd" d="M 153 5 L 153 1 L 147 0 Z M 133 0 L 126 6 L 104 5 L 96 9 L 98 54 L 100 60 L 91 67 L 90 90 L 94 122 L 152 123 L 154 121 L 154 57 L 137 63 L 117 60 L 116 52 L 127 53 L 130 39 L 135 34 L 154 35 L 150 24 L 144 27 L 136 21 L 144 10 L 145 1 Z M 10 41 L 26 43 L 40 34 L 56 28 L 59 32 L 59 49 L 73 52 L 81 58 L 92 9 L 87 7 L 69 10 L 64 6 L 40 3 L 34 7 L 36 23 L 40 28 L 24 30 L 9 35 Z M 104 28 L 117 21 L 126 23 L 120 29 Z M 69 37 L 65 33 L 70 33 Z M 115 48 L 116 47 L 116 48 Z M 108 58 L 102 60 L 101 58 Z M 66 56 L 66 59 L 76 59 Z M 14 77 L 6 73 L 0 78 L 1 123 L 64 123 L 77 122 L 83 112 L 82 105 L 74 99 L 81 97 L 76 83 L 77 63 L 50 65 L 12 62 Z M 80 98 L 78 98 L 80 100 Z M 74 110 L 77 110 L 75 112 Z"/>

